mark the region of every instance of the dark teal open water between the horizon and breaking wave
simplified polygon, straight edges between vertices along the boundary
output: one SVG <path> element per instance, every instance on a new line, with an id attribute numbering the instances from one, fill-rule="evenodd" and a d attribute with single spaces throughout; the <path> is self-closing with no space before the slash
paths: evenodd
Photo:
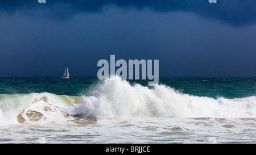
<path id="1" fill-rule="evenodd" d="M 8 77 L 0 78 L 0 94 L 28 94 L 48 92 L 57 95 L 81 96 L 90 94 L 93 86 L 101 83 L 98 78 L 71 77 Z M 143 80 L 130 80 L 131 85 L 139 83 L 147 86 Z M 244 98 L 256 95 L 256 78 L 226 77 L 166 77 L 159 79 L 159 85 L 170 86 L 184 94 L 199 97 Z M 152 88 L 152 87 L 150 87 Z"/>

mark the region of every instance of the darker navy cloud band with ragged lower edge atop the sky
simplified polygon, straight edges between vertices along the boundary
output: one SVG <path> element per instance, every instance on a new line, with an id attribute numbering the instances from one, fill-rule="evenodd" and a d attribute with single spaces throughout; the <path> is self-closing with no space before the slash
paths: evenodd
<path id="1" fill-rule="evenodd" d="M 119 8 L 148 8 L 152 11 L 164 13 L 183 11 L 195 13 L 205 19 L 215 19 L 230 26 L 242 27 L 256 23 L 255 0 L 217 0 L 209 3 L 208 0 L 46 0 L 47 3 L 38 3 L 37 0 L 0 0 L 0 14 L 15 14 L 18 12 L 28 15 L 44 15 L 53 19 L 67 19 L 80 12 L 101 12 L 104 6 L 115 5 Z"/>

